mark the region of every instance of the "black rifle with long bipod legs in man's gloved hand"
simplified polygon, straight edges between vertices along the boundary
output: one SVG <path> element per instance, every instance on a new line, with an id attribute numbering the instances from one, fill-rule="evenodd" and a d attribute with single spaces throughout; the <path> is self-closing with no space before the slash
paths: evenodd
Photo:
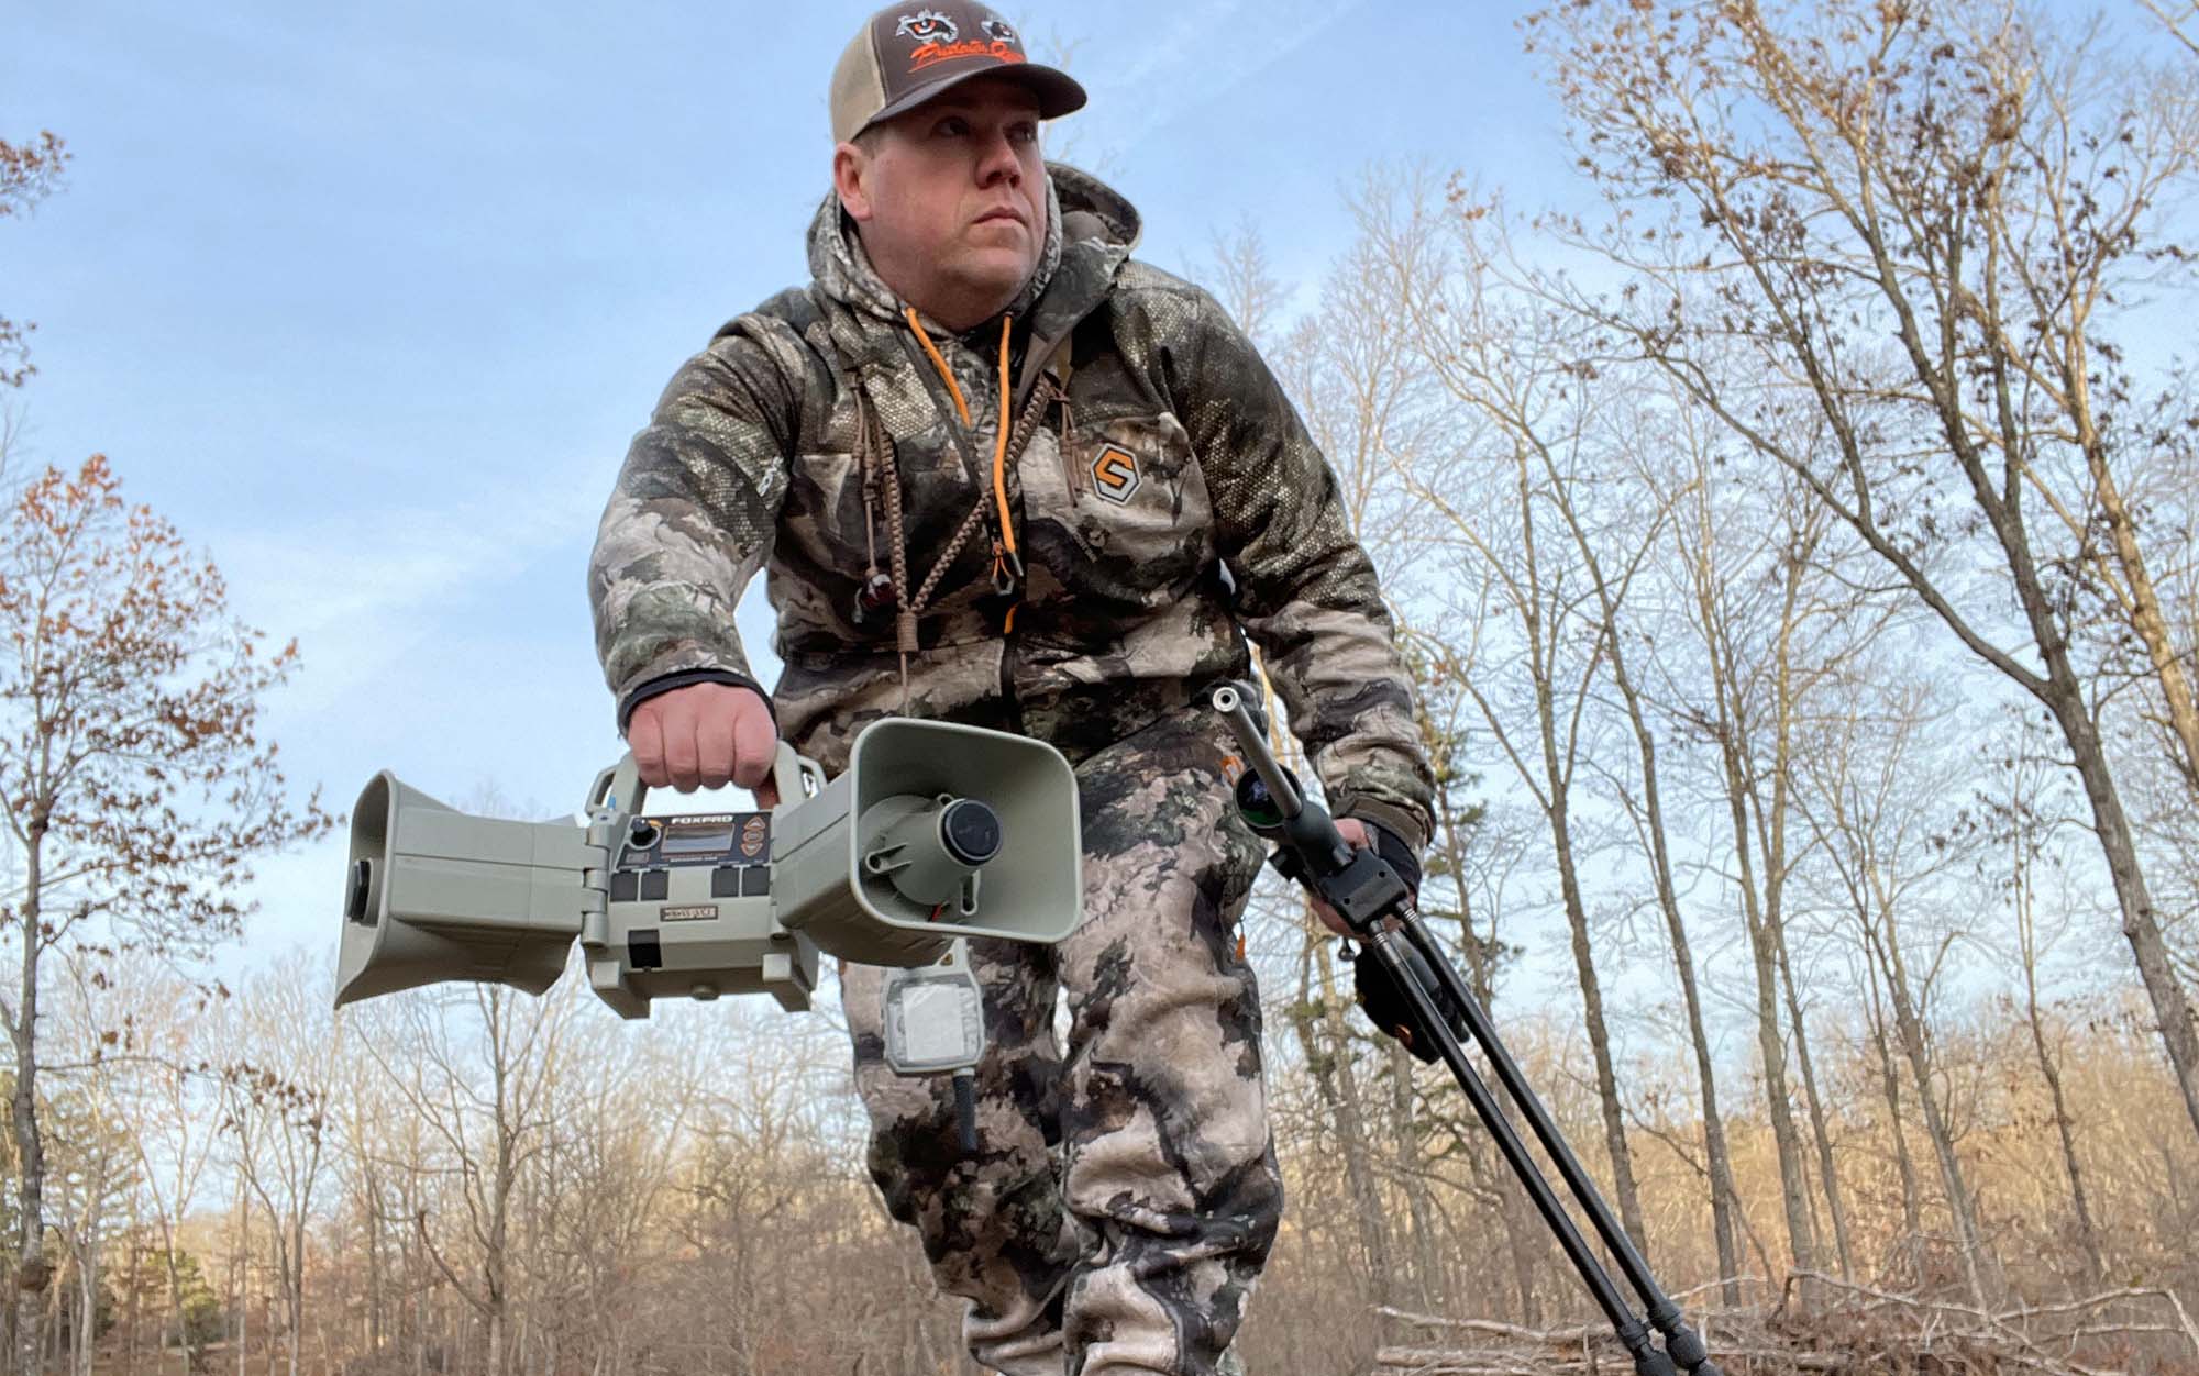
<path id="1" fill-rule="evenodd" d="M 1348 844 L 1337 833 L 1335 820 L 1317 802 L 1304 798 L 1297 780 L 1269 750 L 1264 723 L 1242 686 L 1225 684 L 1216 688 L 1212 703 L 1229 723 L 1251 765 L 1249 774 L 1238 780 L 1238 813 L 1264 840 L 1278 842 L 1278 851 L 1269 862 L 1286 879 L 1302 884 L 1306 892 L 1335 908 L 1357 939 L 1374 952 L 1374 958 L 1381 961 L 1396 989 L 1403 991 L 1414 1031 L 1425 1035 L 1425 1044 L 1434 1046 L 1438 1059 L 1449 1066 L 1458 1088 L 1473 1103 L 1473 1114 L 1504 1154 L 1504 1165 L 1520 1178 L 1520 1185 L 1535 1202 L 1535 1211 L 1557 1233 L 1566 1260 L 1572 1262 L 1572 1268 L 1581 1275 L 1581 1284 L 1588 1286 L 1612 1332 L 1618 1334 L 1618 1343 L 1634 1358 L 1634 1369 L 1640 1376 L 1678 1376 L 1678 1372 L 1687 1372 L 1689 1376 L 1724 1376 L 1717 1363 L 1711 1361 L 1702 1334 L 1689 1328 L 1680 1306 L 1649 1275 L 1649 1262 L 1643 1260 L 1640 1249 L 1634 1246 L 1634 1240 L 1618 1224 L 1596 1183 L 1581 1167 L 1581 1158 L 1572 1154 L 1572 1145 L 1557 1130 L 1550 1110 L 1535 1097 L 1526 1075 L 1520 1070 L 1520 1062 L 1498 1040 L 1498 1029 L 1489 1020 L 1489 1011 L 1482 1009 L 1480 1000 L 1473 998 L 1473 991 L 1458 976 L 1458 967 L 1436 945 L 1427 923 L 1421 921 L 1421 910 L 1414 908 L 1412 890 L 1405 888 L 1405 881 L 1372 848 Z M 1247 787 L 1251 780 L 1258 780 L 1258 787 Z M 1647 1308 L 1647 1323 L 1634 1312 L 1634 1306 L 1618 1290 L 1618 1284 L 1596 1253 L 1590 1251 L 1579 1224 L 1572 1222 L 1572 1213 L 1566 1211 L 1548 1176 L 1541 1174 L 1541 1167 L 1528 1154 L 1520 1132 L 1504 1117 L 1504 1106 L 1489 1090 L 1473 1062 L 1467 1059 L 1467 1048 L 1460 1046 L 1458 1033 L 1451 1031 L 1449 1020 L 1436 1002 L 1436 989 L 1421 983 L 1407 963 L 1407 952 L 1399 947 L 1401 934 L 1410 950 L 1418 952 L 1434 972 L 1440 994 L 1467 1024 L 1467 1033 L 1480 1044 L 1482 1055 L 1489 1057 L 1498 1081 L 1526 1117 L 1535 1141 L 1541 1143 L 1541 1150 L 1557 1165 L 1557 1174 L 1566 1180 L 1566 1189 L 1572 1191 L 1574 1202 L 1588 1213 L 1596 1238 L 1618 1260 L 1627 1284 L 1634 1286 L 1634 1292 L 1640 1295 Z M 1651 1336 L 1651 1328 L 1656 1334 L 1662 1334 L 1662 1350 Z"/>

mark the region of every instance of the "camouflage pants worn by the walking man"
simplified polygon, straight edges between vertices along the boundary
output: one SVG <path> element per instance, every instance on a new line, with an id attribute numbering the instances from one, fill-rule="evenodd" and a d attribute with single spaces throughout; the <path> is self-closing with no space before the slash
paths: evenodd
<path id="1" fill-rule="evenodd" d="M 842 974 L 871 1176 L 970 1301 L 970 1352 L 1009 1376 L 1207 1376 L 1275 1240 L 1260 998 L 1231 934 L 1260 844 L 1209 730 L 1170 714 L 1078 767 L 1084 921 L 1067 941 L 972 943 L 990 1040 L 974 1158 L 950 1079 L 884 1064 L 882 972 Z"/>

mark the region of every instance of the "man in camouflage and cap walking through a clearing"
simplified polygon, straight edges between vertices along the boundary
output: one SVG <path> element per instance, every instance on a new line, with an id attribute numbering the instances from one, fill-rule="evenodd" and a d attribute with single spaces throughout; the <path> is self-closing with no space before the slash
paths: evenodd
<path id="1" fill-rule="evenodd" d="M 871 1172 L 987 1367 L 1203 1374 L 1282 1209 L 1231 932 L 1260 844 L 1203 688 L 1249 673 L 1249 633 L 1348 833 L 1410 877 L 1432 785 L 1372 567 L 1275 380 L 1130 259 L 1128 202 L 1040 160 L 1040 121 L 1082 103 L 983 4 L 877 11 L 831 81 L 814 281 L 673 378 L 589 591 L 651 785 L 756 787 L 778 736 L 838 772 L 895 712 L 1078 767 L 1084 923 L 972 952 L 976 1158 L 943 1079 L 886 1070 L 880 972 L 844 969 Z M 770 697 L 732 624 L 759 567 Z"/>

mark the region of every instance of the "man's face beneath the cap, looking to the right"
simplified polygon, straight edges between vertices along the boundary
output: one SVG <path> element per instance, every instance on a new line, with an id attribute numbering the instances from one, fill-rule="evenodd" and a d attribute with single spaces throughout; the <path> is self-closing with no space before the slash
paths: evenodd
<path id="1" fill-rule="evenodd" d="M 968 330 L 1001 312 L 1047 242 L 1038 99 L 979 77 L 833 152 L 840 204 L 902 299 Z"/>

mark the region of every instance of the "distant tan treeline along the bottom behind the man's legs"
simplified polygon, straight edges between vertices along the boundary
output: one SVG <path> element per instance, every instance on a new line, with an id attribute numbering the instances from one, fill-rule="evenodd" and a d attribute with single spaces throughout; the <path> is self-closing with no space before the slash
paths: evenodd
<path id="1" fill-rule="evenodd" d="M 1273 945 L 1289 925 L 1267 912 L 1256 930 Z M 1585 1321 L 1456 1090 L 1425 1068 L 1399 1075 L 1394 1048 L 1317 976 L 1311 998 L 1289 978 L 1271 987 L 1293 1202 L 1247 1361 L 1361 1369 L 1414 1330 L 1381 1308 Z M 341 1018 L 330 998 L 321 952 L 299 952 L 226 998 L 132 963 L 108 989 L 57 1000 L 57 1064 L 75 1068 L 46 1101 L 48 1369 L 961 1369 L 957 1314 L 862 1174 L 847 1051 L 825 1016 L 675 1007 L 627 1027 L 578 978 L 541 1000 L 418 994 Z M 101 1053 L 110 1000 L 132 1027 Z M 1596 1141 L 1577 1018 L 1502 998 L 1498 1011 L 1568 1132 Z M 2142 1016 L 2067 1007 L 2043 1029 L 2067 1066 L 2104 1277 L 2078 1238 L 2030 1022 L 1992 998 L 1935 1020 L 2001 1299 L 2188 1292 L 2199 1180 Z M 1920 1114 L 1885 1077 L 1880 1037 L 1860 1011 L 1827 1009 L 1816 1031 L 1847 1275 L 1962 1290 L 1953 1211 L 1915 1156 Z M 1625 1084 L 1651 1257 L 1687 1284 L 1713 1279 L 1684 1073 L 1645 1044 Z M 1792 1268 L 1777 1145 L 1761 1079 L 1735 1088 L 1742 1306 L 1768 1308 Z M 2151 1308 L 2113 1319 L 2173 1317 Z"/>

